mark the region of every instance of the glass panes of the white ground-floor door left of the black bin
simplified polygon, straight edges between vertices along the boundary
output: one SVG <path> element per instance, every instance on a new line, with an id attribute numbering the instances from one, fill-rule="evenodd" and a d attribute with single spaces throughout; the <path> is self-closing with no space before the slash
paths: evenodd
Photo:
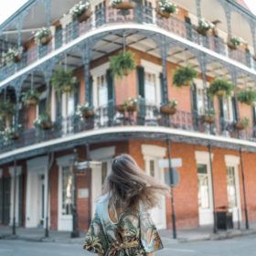
<path id="1" fill-rule="evenodd" d="M 210 208 L 208 165 L 197 165 L 198 205 L 199 208 Z"/>

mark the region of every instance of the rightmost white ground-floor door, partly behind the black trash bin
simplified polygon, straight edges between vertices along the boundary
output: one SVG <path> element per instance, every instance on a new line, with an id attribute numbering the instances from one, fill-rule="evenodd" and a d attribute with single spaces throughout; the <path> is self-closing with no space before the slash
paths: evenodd
<path id="1" fill-rule="evenodd" d="M 238 166 L 227 166 L 227 192 L 229 212 L 233 214 L 233 221 L 238 221 L 241 219 Z"/>

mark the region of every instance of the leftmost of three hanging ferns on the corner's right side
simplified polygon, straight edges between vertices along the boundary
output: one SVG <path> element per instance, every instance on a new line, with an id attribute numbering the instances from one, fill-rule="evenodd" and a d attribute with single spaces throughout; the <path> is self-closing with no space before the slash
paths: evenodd
<path id="1" fill-rule="evenodd" d="M 197 78 L 197 71 L 189 66 L 176 69 L 173 84 L 176 87 L 189 86 Z"/>

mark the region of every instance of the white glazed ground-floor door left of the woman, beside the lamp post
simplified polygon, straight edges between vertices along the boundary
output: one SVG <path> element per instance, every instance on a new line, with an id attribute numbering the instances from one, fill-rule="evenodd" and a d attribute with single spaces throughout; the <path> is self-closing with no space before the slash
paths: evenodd
<path id="1" fill-rule="evenodd" d="M 70 166 L 59 166 L 59 230 L 72 230 L 72 186 Z"/>

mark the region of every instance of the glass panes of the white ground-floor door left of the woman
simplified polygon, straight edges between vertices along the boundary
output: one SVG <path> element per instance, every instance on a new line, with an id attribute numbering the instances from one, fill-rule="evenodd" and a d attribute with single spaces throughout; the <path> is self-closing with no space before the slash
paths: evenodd
<path id="1" fill-rule="evenodd" d="M 72 214 L 72 174 L 70 173 L 69 166 L 62 167 L 62 215 Z"/>

